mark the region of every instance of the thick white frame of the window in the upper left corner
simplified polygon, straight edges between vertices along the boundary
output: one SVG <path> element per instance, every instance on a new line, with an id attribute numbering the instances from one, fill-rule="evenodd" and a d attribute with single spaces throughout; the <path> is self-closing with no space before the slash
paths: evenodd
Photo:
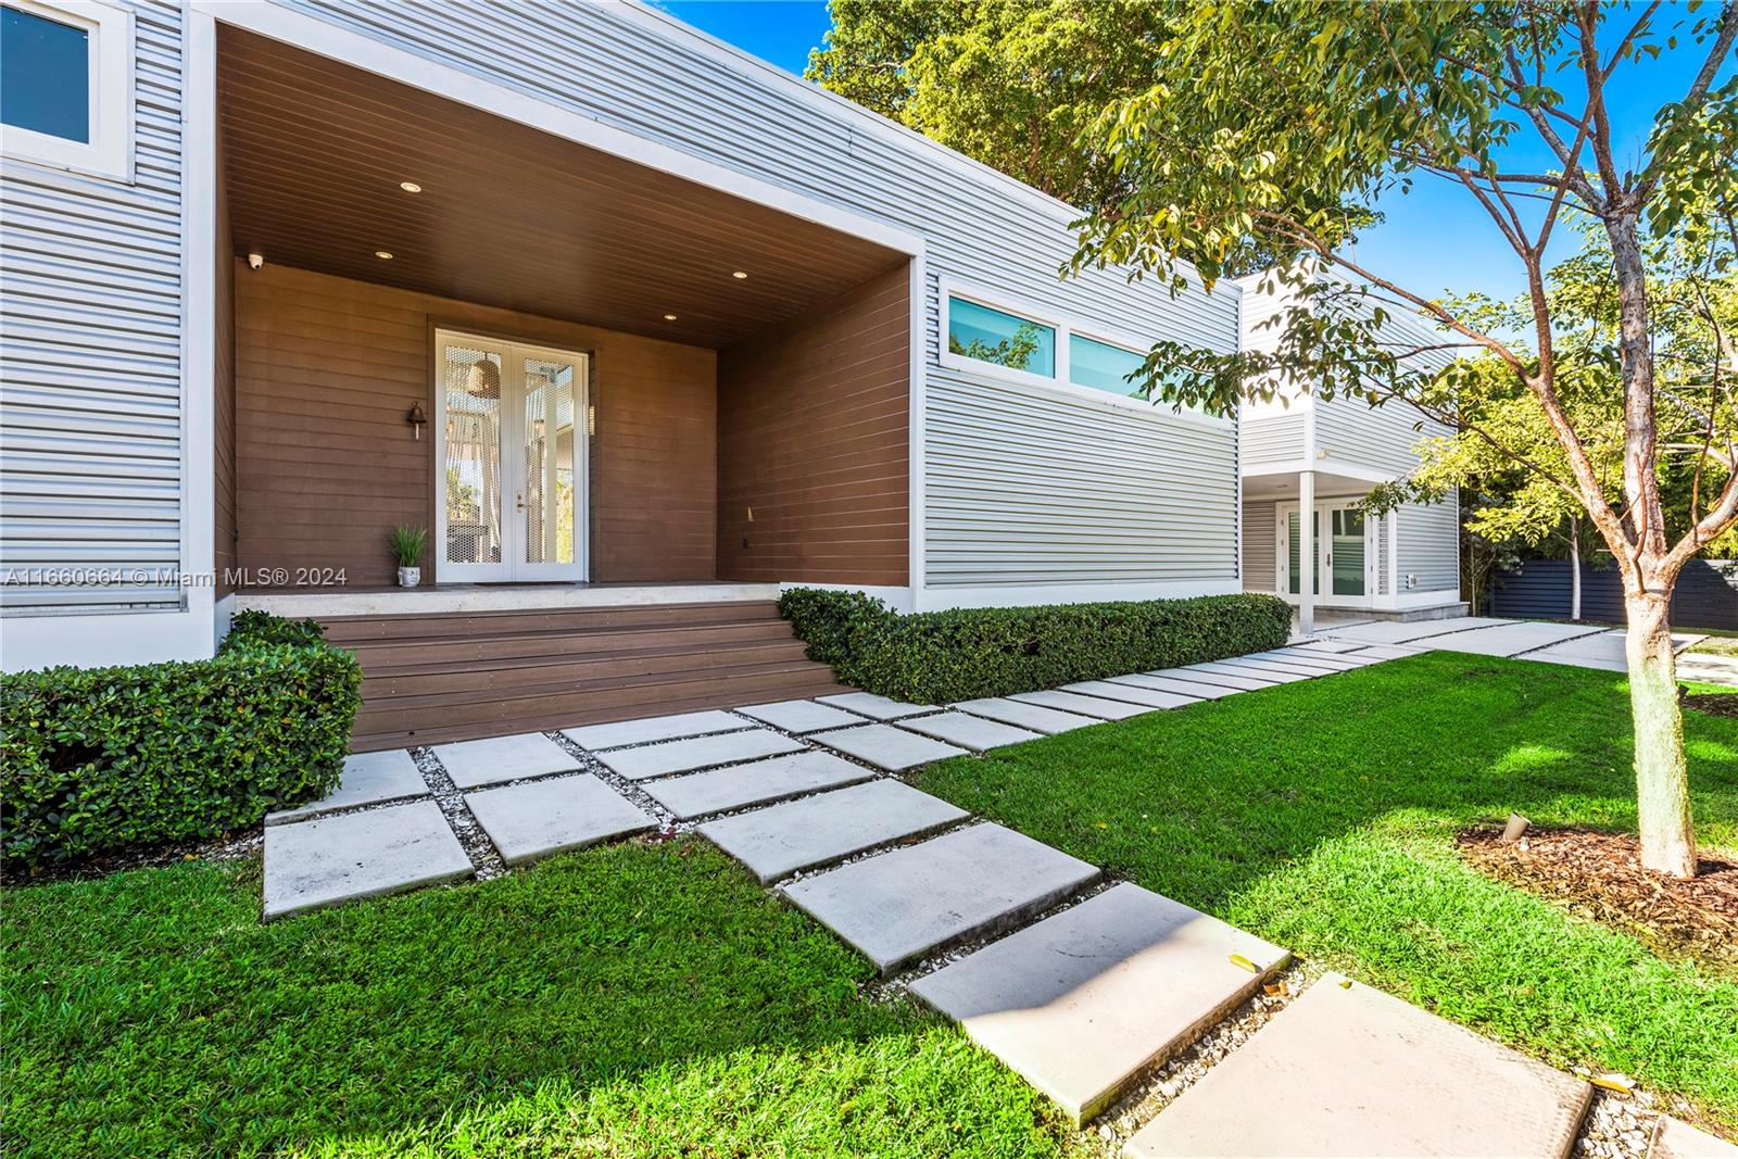
<path id="1" fill-rule="evenodd" d="M 5 155 L 132 182 L 132 12 L 108 0 L 5 0 L 5 7 L 82 28 L 90 50 L 90 141 L 0 125 Z"/>

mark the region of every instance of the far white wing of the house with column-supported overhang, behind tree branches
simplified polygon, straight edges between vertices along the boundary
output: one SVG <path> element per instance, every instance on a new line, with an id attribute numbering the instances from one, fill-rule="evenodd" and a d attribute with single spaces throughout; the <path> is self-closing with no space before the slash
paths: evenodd
<path id="1" fill-rule="evenodd" d="M 1284 281 L 1241 278 L 1243 348 L 1272 351 L 1297 302 Z M 1446 339 L 1418 321 L 1390 316 L 1382 328 L 1396 353 L 1425 368 L 1453 361 Z M 1436 619 L 1463 615 L 1460 599 L 1460 500 L 1406 504 L 1375 516 L 1359 502 L 1376 483 L 1418 467 L 1418 445 L 1449 433 L 1404 403 L 1370 407 L 1356 398 L 1316 398 L 1279 382 L 1272 401 L 1239 415 L 1243 436 L 1243 586 L 1298 606 L 1305 629 L 1314 608 L 1361 615 Z M 1314 511 L 1304 520 L 1304 511 Z M 1305 570 L 1300 561 L 1314 560 Z"/>

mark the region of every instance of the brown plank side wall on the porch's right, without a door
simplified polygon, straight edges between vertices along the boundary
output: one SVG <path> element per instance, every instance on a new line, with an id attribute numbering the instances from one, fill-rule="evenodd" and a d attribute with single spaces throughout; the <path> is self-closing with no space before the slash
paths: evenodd
<path id="1" fill-rule="evenodd" d="M 909 351 L 899 268 L 720 354 L 720 579 L 907 582 Z"/>

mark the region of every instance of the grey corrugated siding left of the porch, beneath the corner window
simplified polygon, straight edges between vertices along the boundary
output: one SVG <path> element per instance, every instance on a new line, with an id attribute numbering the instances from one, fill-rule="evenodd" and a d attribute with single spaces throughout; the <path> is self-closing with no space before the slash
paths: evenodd
<path id="1" fill-rule="evenodd" d="M 132 184 L 0 169 L 0 556 L 122 582 L 9 586 L 7 612 L 181 603 L 182 16 L 130 7 Z"/>

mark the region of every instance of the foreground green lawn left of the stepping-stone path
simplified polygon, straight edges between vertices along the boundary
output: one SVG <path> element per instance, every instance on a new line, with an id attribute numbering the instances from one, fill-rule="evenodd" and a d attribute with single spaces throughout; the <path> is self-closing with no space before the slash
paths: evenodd
<path id="1" fill-rule="evenodd" d="M 1043 1098 L 700 843 L 259 924 L 257 864 L 9 890 L 10 1156 L 1046 1156 Z"/>

